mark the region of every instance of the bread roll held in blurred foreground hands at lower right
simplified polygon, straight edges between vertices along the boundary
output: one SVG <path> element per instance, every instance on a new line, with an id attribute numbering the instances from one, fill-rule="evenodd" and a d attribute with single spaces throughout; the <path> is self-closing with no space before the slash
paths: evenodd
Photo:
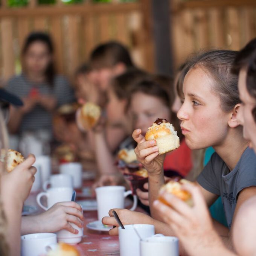
<path id="1" fill-rule="evenodd" d="M 166 183 L 161 189 L 160 189 L 160 193 L 163 191 L 167 191 L 173 195 L 175 195 L 175 197 L 180 198 L 181 200 L 183 200 L 185 203 L 187 203 L 189 206 L 193 206 L 193 201 L 192 201 L 192 196 L 189 192 L 187 192 L 186 190 L 181 189 L 181 186 L 183 184 L 186 183 L 191 183 L 188 180 L 185 179 L 181 179 L 179 181 L 174 181 L 171 180 L 168 183 Z M 163 199 L 161 197 L 161 194 L 159 195 L 159 200 L 162 201 L 164 204 L 169 205 L 165 199 Z"/>

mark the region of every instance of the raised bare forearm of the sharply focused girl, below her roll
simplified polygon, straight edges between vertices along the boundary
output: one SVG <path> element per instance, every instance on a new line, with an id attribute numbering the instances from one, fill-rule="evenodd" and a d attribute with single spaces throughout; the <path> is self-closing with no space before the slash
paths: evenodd
<path id="1" fill-rule="evenodd" d="M 160 188 L 165 184 L 165 177 L 163 171 L 158 175 L 148 175 L 149 184 L 149 207 L 151 216 L 154 219 L 161 220 L 160 216 L 156 213 L 153 203 L 158 199 L 158 193 Z"/>

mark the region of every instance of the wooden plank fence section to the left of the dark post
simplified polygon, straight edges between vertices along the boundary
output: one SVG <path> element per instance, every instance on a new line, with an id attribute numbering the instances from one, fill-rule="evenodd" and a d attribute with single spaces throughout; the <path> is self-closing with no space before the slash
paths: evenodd
<path id="1" fill-rule="evenodd" d="M 5 1 L 4 1 L 5 2 Z M 152 71 L 147 61 L 150 42 L 143 28 L 142 5 L 138 3 L 64 6 L 37 6 L 32 0 L 25 8 L 0 8 L 0 78 L 14 75 L 20 52 L 29 32 L 49 32 L 55 43 L 58 72 L 72 78 L 75 69 L 87 60 L 91 49 L 108 40 L 127 45 L 136 64 Z M 145 40 L 146 38 L 146 40 Z"/>

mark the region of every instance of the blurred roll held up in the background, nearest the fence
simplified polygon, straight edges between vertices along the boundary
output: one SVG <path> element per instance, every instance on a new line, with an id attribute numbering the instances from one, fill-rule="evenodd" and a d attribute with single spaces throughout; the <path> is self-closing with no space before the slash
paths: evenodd
<path id="1" fill-rule="evenodd" d="M 81 108 L 80 121 L 85 130 L 92 128 L 98 122 L 101 116 L 101 108 L 92 103 L 87 102 Z"/>

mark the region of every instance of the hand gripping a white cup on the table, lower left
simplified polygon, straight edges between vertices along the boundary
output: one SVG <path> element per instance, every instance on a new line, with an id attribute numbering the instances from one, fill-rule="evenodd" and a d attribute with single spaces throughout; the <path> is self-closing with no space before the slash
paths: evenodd
<path id="1" fill-rule="evenodd" d="M 71 233 L 78 234 L 78 230 L 74 229 L 69 222 L 83 227 L 84 216 L 81 206 L 75 202 L 56 203 L 49 210 L 36 216 L 31 216 L 38 224 L 37 232 L 54 233 L 61 229 L 66 229 Z M 35 233 L 37 233 L 35 232 Z"/>

